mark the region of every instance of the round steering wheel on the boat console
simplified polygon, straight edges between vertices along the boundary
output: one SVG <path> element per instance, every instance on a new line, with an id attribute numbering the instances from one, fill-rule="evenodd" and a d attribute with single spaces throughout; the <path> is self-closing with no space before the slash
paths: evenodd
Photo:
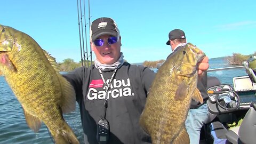
<path id="1" fill-rule="evenodd" d="M 227 110 L 235 110 L 240 105 L 238 94 L 230 89 L 221 89 L 215 95 L 215 100 L 221 108 Z"/>

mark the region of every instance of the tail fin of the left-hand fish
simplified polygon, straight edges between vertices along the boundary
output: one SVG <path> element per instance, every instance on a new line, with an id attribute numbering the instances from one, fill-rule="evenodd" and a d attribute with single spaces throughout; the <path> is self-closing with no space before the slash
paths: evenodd
<path id="1" fill-rule="evenodd" d="M 56 144 L 79 144 L 73 130 L 65 123 L 61 129 L 57 131 L 55 135 L 52 135 Z"/>

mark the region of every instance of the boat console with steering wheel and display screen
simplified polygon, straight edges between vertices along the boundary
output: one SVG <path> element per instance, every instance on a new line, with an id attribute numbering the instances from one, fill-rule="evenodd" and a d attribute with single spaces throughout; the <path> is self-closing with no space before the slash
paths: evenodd
<path id="1" fill-rule="evenodd" d="M 208 90 L 209 112 L 213 115 L 230 113 L 234 110 L 249 109 L 256 101 L 256 83 L 249 76 L 233 78 L 233 86 L 228 84 L 216 85 Z"/>

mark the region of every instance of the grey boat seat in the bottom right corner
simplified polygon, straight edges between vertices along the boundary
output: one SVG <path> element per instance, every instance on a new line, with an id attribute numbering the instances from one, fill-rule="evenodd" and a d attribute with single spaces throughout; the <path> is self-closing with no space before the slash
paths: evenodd
<path id="1" fill-rule="evenodd" d="M 238 131 L 238 132 L 237 132 Z M 255 144 L 256 143 L 256 103 L 252 102 L 250 109 L 247 111 L 246 115 L 237 130 L 230 129 L 226 133 L 228 141 L 234 144 L 246 143 Z"/>

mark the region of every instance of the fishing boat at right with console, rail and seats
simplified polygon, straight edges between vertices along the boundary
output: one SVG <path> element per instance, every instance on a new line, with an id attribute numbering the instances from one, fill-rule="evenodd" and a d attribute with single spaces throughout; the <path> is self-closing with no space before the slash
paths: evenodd
<path id="1" fill-rule="evenodd" d="M 217 77 L 207 80 L 208 121 L 201 129 L 201 143 L 255 143 L 256 55 L 243 62 L 246 76 L 233 77 L 233 85 Z M 207 71 L 237 69 L 228 67 Z M 243 74 L 244 75 L 244 74 Z M 215 82 L 212 82 L 212 79 Z"/>

